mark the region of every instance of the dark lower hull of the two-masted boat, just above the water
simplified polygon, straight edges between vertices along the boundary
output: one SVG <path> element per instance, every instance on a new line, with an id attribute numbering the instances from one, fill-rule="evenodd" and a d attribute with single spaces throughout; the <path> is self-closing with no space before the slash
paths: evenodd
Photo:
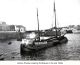
<path id="1" fill-rule="evenodd" d="M 20 49 L 21 49 L 21 52 L 35 52 L 41 49 L 52 47 L 57 44 L 65 43 L 67 41 L 68 41 L 67 38 L 63 37 L 63 38 L 59 38 L 58 40 L 47 41 L 47 44 L 27 45 L 27 46 L 24 44 L 21 44 Z"/>

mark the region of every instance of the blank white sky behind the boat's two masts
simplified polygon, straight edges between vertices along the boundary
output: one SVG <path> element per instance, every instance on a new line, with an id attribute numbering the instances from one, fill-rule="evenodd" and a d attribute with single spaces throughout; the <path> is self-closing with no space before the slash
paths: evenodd
<path id="1" fill-rule="evenodd" d="M 54 0 L 0 0 L 0 22 L 37 30 L 54 26 Z M 80 0 L 55 0 L 57 26 L 80 25 Z"/>

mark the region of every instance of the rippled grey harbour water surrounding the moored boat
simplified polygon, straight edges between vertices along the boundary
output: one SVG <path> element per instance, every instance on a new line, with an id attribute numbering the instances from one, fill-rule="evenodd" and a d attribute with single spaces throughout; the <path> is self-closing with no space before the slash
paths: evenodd
<path id="1" fill-rule="evenodd" d="M 0 41 L 0 60 L 80 60 L 80 34 L 67 34 L 68 42 L 33 54 L 20 53 L 20 41 Z M 12 44 L 8 44 L 9 42 Z"/>

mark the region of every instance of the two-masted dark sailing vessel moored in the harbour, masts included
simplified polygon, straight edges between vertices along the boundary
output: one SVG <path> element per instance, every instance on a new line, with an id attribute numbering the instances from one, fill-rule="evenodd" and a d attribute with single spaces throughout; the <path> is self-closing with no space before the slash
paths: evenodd
<path id="1" fill-rule="evenodd" d="M 51 30 L 46 32 L 43 35 L 40 34 L 39 30 L 39 19 L 38 19 L 38 9 L 37 9 L 37 22 L 38 22 L 38 33 L 32 32 L 27 35 L 25 39 L 22 39 L 22 43 L 20 45 L 21 52 L 34 52 L 39 51 L 41 49 L 52 47 L 56 44 L 67 42 L 67 38 L 64 37 L 64 34 L 60 33 L 60 30 L 57 29 L 56 26 L 56 10 L 55 10 L 55 2 L 54 2 L 54 12 L 55 12 L 55 31 Z M 48 35 L 51 34 L 51 35 Z"/>

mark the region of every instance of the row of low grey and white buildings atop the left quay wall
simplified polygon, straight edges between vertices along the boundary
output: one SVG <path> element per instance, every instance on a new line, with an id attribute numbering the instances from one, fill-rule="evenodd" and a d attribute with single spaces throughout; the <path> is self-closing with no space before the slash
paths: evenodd
<path id="1" fill-rule="evenodd" d="M 0 31 L 25 32 L 26 28 L 22 25 L 7 25 L 5 22 L 2 22 L 0 23 Z"/>

